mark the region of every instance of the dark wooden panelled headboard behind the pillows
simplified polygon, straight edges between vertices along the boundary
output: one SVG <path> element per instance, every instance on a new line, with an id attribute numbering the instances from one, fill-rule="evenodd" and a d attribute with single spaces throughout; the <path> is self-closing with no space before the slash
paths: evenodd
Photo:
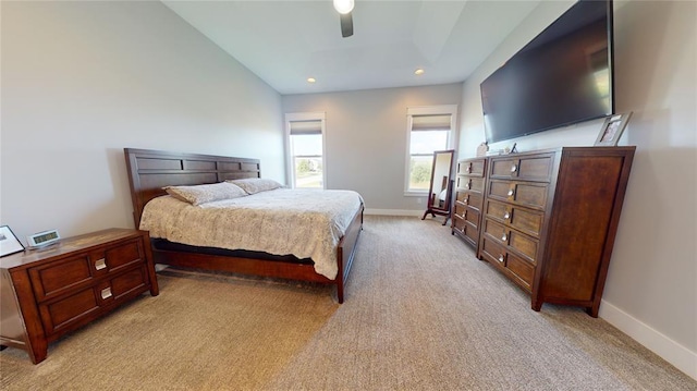
<path id="1" fill-rule="evenodd" d="M 261 176 L 258 159 L 134 148 L 124 148 L 123 151 L 136 228 L 140 225 L 145 204 L 167 194 L 163 186 L 198 185 Z"/>

